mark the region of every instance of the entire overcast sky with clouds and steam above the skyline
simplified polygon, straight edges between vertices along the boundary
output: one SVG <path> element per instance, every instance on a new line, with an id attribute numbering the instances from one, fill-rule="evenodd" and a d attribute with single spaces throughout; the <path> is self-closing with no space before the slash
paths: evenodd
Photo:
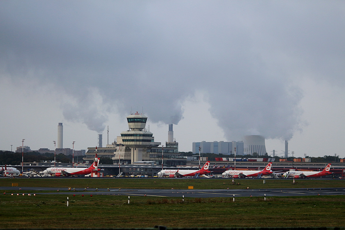
<path id="1" fill-rule="evenodd" d="M 263 135 L 345 157 L 344 1 L 0 1 L 0 149 Z M 281 156 L 281 155 L 280 155 Z"/>

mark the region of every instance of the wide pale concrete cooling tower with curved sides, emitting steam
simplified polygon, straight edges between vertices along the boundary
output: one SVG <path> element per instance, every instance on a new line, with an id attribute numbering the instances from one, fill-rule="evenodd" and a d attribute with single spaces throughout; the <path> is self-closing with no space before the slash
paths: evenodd
<path id="1" fill-rule="evenodd" d="M 250 135 L 243 137 L 244 154 L 253 155 L 254 152 L 259 156 L 266 155 L 265 138 L 259 135 Z"/>

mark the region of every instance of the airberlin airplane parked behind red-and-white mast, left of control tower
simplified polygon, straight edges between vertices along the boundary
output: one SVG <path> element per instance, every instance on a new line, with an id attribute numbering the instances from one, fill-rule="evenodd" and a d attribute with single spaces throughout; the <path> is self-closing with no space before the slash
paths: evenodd
<path id="1" fill-rule="evenodd" d="M 86 175 L 90 174 L 92 171 L 100 171 L 98 168 L 99 158 L 97 161 L 94 161 L 89 168 L 67 168 L 67 167 L 51 167 L 43 171 L 45 175 L 55 175 L 56 177 L 60 176 L 73 176 L 73 175 Z"/>

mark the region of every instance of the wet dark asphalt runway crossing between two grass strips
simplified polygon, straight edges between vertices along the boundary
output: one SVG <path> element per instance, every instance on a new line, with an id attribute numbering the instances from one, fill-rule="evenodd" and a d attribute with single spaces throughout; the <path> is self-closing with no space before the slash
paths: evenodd
<path id="1" fill-rule="evenodd" d="M 27 194 L 40 191 L 37 194 L 85 194 L 85 195 L 115 195 L 115 196 L 152 196 L 152 197 L 288 197 L 288 196 L 322 196 L 344 195 L 345 188 L 291 188 L 291 189 L 97 189 L 96 188 L 39 188 L 39 187 L 0 187 L 1 190 L 18 190 Z M 74 190 L 75 189 L 75 190 Z M 58 191 L 59 190 L 59 191 Z M 51 192 L 41 192 L 51 191 Z"/>

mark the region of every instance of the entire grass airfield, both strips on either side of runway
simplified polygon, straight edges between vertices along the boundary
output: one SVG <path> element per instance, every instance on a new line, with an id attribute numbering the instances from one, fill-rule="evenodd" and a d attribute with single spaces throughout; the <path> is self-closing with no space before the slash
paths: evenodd
<path id="1" fill-rule="evenodd" d="M 345 187 L 344 180 L 0 178 L 0 187 L 250 189 Z M 239 183 L 239 184 L 238 184 Z M 14 190 L 13 190 L 14 191 Z M 0 228 L 342 227 L 345 196 L 158 198 L 62 194 L 11 196 L 0 190 Z M 25 191 L 28 193 L 28 191 Z M 17 194 L 17 191 L 16 191 Z M 67 207 L 67 196 L 69 207 Z"/>

